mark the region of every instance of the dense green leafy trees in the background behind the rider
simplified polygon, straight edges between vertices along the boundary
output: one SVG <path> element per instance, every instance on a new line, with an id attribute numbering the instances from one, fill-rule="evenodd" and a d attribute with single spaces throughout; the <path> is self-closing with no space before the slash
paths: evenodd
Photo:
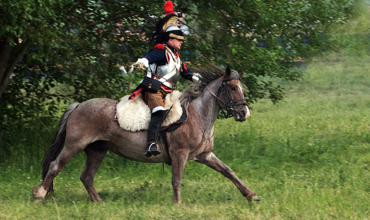
<path id="1" fill-rule="evenodd" d="M 33 128 L 35 120 L 53 130 L 71 102 L 118 100 L 131 92 L 142 72 L 126 75 L 118 66 L 148 52 L 145 35 L 164 16 L 164 2 L 2 0 L 0 140 L 4 131 Z M 351 0 L 174 1 L 176 11 L 189 8 L 181 24 L 188 31 L 181 48 L 187 65 L 244 69 L 247 101 L 274 103 L 283 99 L 274 78 L 297 80 L 299 61 L 339 48 L 338 38 L 327 33 L 346 23 L 353 5 Z"/>

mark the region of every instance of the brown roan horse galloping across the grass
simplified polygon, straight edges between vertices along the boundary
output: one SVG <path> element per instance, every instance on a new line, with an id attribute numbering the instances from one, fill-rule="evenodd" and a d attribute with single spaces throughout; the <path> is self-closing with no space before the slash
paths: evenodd
<path id="1" fill-rule="evenodd" d="M 198 72 L 201 81 L 186 89 L 181 97 L 182 105 L 187 108 L 188 121 L 177 130 L 166 133 L 172 159 L 174 203 L 181 202 L 182 173 L 186 161 L 190 159 L 222 173 L 248 200 L 260 200 L 212 153 L 213 125 L 221 108 L 235 121 L 242 122 L 249 117 L 248 104 L 240 83 L 243 72 L 238 73 L 229 66 L 225 72 L 215 66 L 199 69 Z M 163 157 L 145 157 L 147 131 L 130 132 L 117 125 L 113 120 L 115 105 L 115 100 L 98 98 L 71 104 L 65 110 L 55 140 L 43 160 L 43 183 L 33 188 L 36 201 L 53 193 L 53 179 L 81 150 L 85 151 L 87 161 L 80 179 L 93 202 L 101 201 L 93 180 L 108 150 L 133 161 L 164 162 Z"/>

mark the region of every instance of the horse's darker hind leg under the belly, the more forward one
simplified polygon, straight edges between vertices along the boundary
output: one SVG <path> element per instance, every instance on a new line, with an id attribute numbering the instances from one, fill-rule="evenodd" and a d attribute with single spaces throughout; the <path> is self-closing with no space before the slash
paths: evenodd
<path id="1" fill-rule="evenodd" d="M 84 170 L 81 173 L 80 179 L 84 184 L 87 192 L 90 195 L 91 202 L 100 202 L 100 196 L 94 188 L 94 176 L 99 168 L 101 161 L 107 153 L 106 149 L 87 147 L 84 149 L 87 155 L 87 161 Z"/>

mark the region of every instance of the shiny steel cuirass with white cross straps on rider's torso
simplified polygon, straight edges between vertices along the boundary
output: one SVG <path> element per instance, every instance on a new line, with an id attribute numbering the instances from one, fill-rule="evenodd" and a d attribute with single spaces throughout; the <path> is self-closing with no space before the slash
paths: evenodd
<path id="1" fill-rule="evenodd" d="M 149 65 L 148 67 L 148 73 L 147 76 L 151 77 L 151 72 L 154 72 L 158 76 L 161 76 L 162 78 L 158 79 L 155 77 L 154 79 L 157 79 L 162 82 L 163 85 L 170 87 L 171 89 L 175 89 L 175 86 L 171 83 L 176 84 L 180 77 L 181 72 L 181 59 L 177 58 L 174 53 L 165 45 L 166 49 L 166 56 L 169 57 L 169 62 L 166 63 L 166 65 L 163 66 L 157 66 L 157 63 L 153 63 Z M 151 71 L 151 72 L 149 72 Z M 168 83 L 168 82 L 171 83 Z"/>

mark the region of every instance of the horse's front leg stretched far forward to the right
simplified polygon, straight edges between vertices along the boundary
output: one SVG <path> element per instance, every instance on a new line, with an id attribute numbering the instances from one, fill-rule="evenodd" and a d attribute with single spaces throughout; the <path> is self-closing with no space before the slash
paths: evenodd
<path id="1" fill-rule="evenodd" d="M 210 168 L 214 169 L 215 171 L 218 171 L 222 173 L 222 175 L 229 178 L 235 185 L 238 187 L 240 192 L 250 201 L 259 201 L 257 194 L 252 192 L 245 183 L 243 183 L 230 169 L 228 166 L 226 166 L 220 159 L 218 159 L 212 152 L 198 155 L 196 158 L 194 158 L 196 162 L 199 162 L 201 164 L 205 164 L 209 166 Z"/>

